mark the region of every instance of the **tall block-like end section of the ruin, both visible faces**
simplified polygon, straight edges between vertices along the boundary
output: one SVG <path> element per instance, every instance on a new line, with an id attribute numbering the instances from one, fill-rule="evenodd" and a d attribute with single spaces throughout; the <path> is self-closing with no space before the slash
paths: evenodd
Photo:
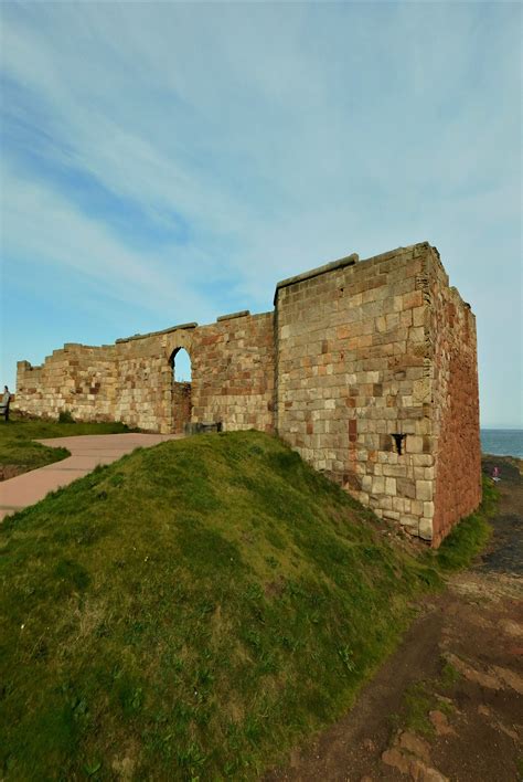
<path id="1" fill-rule="evenodd" d="M 480 500 L 470 307 L 428 243 L 303 276 L 276 294 L 278 433 L 380 517 L 439 542 Z"/>

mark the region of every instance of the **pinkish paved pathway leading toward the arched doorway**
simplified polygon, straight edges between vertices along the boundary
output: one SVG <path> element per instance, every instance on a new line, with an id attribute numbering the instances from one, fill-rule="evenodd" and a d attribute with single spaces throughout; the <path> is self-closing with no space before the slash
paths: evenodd
<path id="1" fill-rule="evenodd" d="M 181 434 L 88 434 L 76 437 L 51 437 L 39 443 L 63 447 L 71 456 L 45 467 L 23 473 L 0 483 L 0 520 L 33 505 L 61 486 L 90 473 L 98 464 L 110 464 L 138 447 L 150 447 Z"/>

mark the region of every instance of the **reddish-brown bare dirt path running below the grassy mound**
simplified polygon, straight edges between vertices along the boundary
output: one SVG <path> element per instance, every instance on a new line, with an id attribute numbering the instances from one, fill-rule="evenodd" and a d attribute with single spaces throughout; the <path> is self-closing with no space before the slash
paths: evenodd
<path id="1" fill-rule="evenodd" d="M 266 782 L 523 780 L 523 478 L 505 458 L 494 535 L 426 601 L 342 720 Z"/>

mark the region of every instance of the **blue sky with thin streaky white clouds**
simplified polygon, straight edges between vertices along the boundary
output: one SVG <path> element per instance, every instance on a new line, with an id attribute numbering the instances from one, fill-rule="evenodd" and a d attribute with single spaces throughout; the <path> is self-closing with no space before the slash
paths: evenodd
<path id="1" fill-rule="evenodd" d="M 523 427 L 522 8 L 2 2 L 0 381 L 429 241 Z"/>

